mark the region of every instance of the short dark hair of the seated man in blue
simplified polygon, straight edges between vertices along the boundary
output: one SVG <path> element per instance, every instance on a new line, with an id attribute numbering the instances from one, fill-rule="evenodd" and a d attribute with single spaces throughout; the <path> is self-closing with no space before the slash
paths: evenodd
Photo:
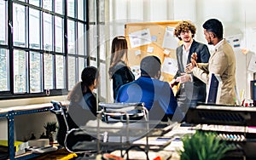
<path id="1" fill-rule="evenodd" d="M 143 58 L 140 68 L 142 76 L 155 77 L 161 69 L 161 61 L 157 56 L 149 55 Z"/>

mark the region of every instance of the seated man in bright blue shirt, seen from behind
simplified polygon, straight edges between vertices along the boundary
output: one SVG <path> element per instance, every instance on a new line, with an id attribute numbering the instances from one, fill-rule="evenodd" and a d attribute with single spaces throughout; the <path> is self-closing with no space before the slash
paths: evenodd
<path id="1" fill-rule="evenodd" d="M 177 108 L 169 83 L 160 81 L 160 59 L 156 56 L 143 58 L 140 64 L 141 77 L 120 87 L 116 102 L 144 102 L 149 119 L 167 121 Z"/>

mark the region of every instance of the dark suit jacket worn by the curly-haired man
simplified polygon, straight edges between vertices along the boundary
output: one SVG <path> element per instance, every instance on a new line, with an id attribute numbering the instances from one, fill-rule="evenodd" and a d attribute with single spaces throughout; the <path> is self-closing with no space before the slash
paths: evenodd
<path id="1" fill-rule="evenodd" d="M 189 49 L 189 57 L 187 64 L 191 62 L 191 55 L 193 53 L 197 54 L 197 63 L 207 63 L 210 58 L 210 53 L 206 44 L 198 43 L 195 40 L 191 44 Z M 181 73 L 185 72 L 184 69 L 186 66 L 183 66 L 183 45 L 179 46 L 176 50 L 177 54 L 177 66 L 178 70 L 174 78 L 181 76 Z M 187 86 L 187 87 L 186 87 Z M 197 77 L 193 77 L 193 83 L 184 83 L 180 86 L 180 89 L 186 88 L 186 91 L 183 91 L 181 94 L 187 94 L 186 97 L 191 97 L 192 100 L 205 101 L 206 93 L 206 84 L 201 82 Z M 181 91 L 178 91 L 180 93 Z M 186 93 L 185 93 L 186 92 Z M 188 96 L 188 94 L 191 94 Z"/>

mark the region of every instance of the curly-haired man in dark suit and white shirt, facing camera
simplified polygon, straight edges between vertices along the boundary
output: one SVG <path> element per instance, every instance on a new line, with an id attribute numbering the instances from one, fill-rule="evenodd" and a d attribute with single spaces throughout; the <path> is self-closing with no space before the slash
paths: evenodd
<path id="1" fill-rule="evenodd" d="M 205 83 L 194 77 L 193 74 L 185 74 L 186 66 L 190 63 L 193 53 L 197 54 L 198 63 L 207 63 L 210 57 L 207 45 L 194 40 L 195 31 L 195 25 L 190 21 L 181 21 L 174 31 L 174 35 L 182 40 L 183 44 L 176 50 L 178 70 L 170 84 L 174 86 L 181 83 L 176 97 L 177 106 L 184 114 L 189 106 L 196 106 L 198 101 L 205 102 L 207 95 Z"/>

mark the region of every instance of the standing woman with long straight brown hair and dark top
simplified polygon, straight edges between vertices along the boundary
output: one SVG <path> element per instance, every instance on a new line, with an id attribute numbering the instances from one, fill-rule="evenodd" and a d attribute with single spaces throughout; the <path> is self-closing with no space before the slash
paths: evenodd
<path id="1" fill-rule="evenodd" d="M 113 79 L 113 100 L 115 100 L 121 85 L 134 81 L 134 75 L 127 66 L 127 41 L 125 37 L 114 37 L 111 48 L 111 59 L 108 70 L 109 77 Z"/>

